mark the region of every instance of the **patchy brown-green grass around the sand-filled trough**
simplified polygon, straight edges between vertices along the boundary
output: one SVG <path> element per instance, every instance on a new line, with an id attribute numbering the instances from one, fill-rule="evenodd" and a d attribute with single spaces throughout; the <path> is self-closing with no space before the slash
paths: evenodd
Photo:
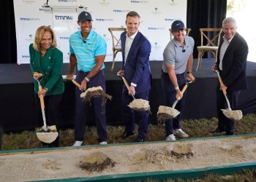
<path id="1" fill-rule="evenodd" d="M 236 135 L 256 133 L 256 114 L 246 114 L 243 119 L 236 122 Z M 217 127 L 217 118 L 212 119 L 189 119 L 181 121 L 182 128 L 189 138 L 202 138 L 216 136 L 209 133 Z M 121 139 L 119 136 L 124 132 L 122 126 L 108 126 L 108 143 L 131 143 L 135 140 L 136 134 L 130 138 Z M 222 134 L 223 135 L 223 134 Z M 178 138 L 177 138 L 178 139 Z M 165 140 L 165 124 L 150 124 L 148 126 L 148 135 L 146 141 L 164 141 Z M 59 131 L 59 146 L 72 146 L 74 143 L 74 130 Z M 86 127 L 85 141 L 83 145 L 95 145 L 97 142 L 97 132 L 95 127 Z M 17 150 L 17 149 L 39 149 L 45 146 L 37 139 L 34 131 L 24 131 L 20 133 L 5 133 L 1 150 Z M 166 179 L 167 182 L 173 181 Z M 180 179 L 176 181 L 183 182 Z M 188 180 L 191 182 L 201 181 L 256 181 L 256 170 L 244 170 L 233 175 L 206 175 L 203 178 Z M 148 179 L 148 182 L 153 180 Z"/>

